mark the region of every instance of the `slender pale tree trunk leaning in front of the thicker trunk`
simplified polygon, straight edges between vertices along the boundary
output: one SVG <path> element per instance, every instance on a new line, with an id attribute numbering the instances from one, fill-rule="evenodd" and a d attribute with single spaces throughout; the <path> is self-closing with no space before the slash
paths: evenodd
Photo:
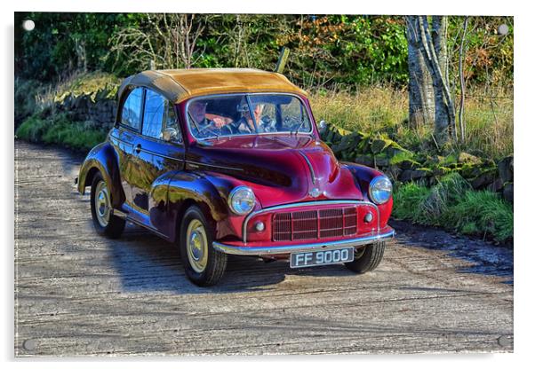
<path id="1" fill-rule="evenodd" d="M 435 95 L 435 139 L 439 145 L 443 145 L 451 138 L 457 138 L 445 47 L 446 21 L 446 17 L 433 16 L 432 25 L 429 26 L 427 16 L 406 17 L 409 40 L 421 53 L 427 71 L 431 75 Z M 428 95 L 425 98 L 428 98 Z"/>

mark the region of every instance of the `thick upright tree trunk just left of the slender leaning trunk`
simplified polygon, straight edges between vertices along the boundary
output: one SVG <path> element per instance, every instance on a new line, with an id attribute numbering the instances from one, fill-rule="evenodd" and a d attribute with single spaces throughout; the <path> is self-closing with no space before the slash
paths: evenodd
<path id="1" fill-rule="evenodd" d="M 407 17 L 407 22 L 414 22 L 415 17 Z M 427 70 L 415 35 L 416 23 L 407 25 L 408 63 L 409 63 L 409 124 L 432 124 L 435 115 L 435 101 L 431 75 Z"/>

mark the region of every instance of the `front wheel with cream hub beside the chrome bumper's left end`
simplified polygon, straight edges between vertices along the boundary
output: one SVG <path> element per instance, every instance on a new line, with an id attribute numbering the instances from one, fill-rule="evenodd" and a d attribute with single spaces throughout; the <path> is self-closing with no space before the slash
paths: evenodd
<path id="1" fill-rule="evenodd" d="M 180 224 L 180 258 L 188 279 L 200 287 L 217 284 L 227 268 L 227 255 L 212 247 L 213 230 L 203 211 L 188 208 Z"/>

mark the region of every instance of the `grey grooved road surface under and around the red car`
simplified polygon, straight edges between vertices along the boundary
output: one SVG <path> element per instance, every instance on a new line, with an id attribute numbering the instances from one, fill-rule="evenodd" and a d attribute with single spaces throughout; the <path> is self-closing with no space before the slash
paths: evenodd
<path id="1" fill-rule="evenodd" d="M 82 158 L 15 144 L 15 355 L 512 351 L 512 251 L 394 224 L 379 269 L 232 257 L 195 287 L 174 247 L 98 237 Z"/>

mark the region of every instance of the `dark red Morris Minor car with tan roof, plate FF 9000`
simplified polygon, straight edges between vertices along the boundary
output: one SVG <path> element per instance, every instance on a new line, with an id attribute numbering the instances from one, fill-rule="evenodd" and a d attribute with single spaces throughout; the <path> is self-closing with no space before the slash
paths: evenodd
<path id="1" fill-rule="evenodd" d="M 217 283 L 227 255 L 375 269 L 392 210 L 378 170 L 336 160 L 306 93 L 253 69 L 151 70 L 118 91 L 115 126 L 87 155 L 98 233 L 125 222 L 179 246 L 196 285 Z"/>

